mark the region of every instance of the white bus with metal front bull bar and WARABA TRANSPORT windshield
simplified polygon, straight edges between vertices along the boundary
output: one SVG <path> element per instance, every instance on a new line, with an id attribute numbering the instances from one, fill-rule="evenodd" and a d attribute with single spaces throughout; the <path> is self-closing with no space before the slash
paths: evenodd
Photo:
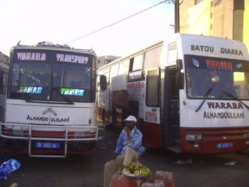
<path id="1" fill-rule="evenodd" d="M 4 152 L 66 157 L 95 150 L 96 54 L 40 42 L 10 51 Z"/>

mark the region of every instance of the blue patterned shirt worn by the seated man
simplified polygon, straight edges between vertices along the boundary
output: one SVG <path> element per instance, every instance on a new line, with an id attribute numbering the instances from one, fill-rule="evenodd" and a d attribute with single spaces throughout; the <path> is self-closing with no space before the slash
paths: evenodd
<path id="1" fill-rule="evenodd" d="M 118 154 L 124 153 L 126 147 L 130 147 L 133 150 L 135 150 L 139 156 L 143 153 L 143 148 L 142 148 L 143 135 L 137 129 L 137 127 L 134 127 L 132 129 L 132 131 L 130 132 L 130 137 L 131 137 L 131 139 L 128 140 L 127 133 L 125 132 L 125 130 L 121 131 L 119 138 L 118 138 L 115 153 L 118 153 Z"/>

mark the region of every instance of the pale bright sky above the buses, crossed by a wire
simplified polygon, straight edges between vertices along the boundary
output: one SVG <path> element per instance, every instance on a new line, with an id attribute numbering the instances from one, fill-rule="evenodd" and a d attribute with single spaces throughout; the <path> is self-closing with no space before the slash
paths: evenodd
<path id="1" fill-rule="evenodd" d="M 172 0 L 146 10 L 163 1 L 0 0 L 0 51 L 9 56 L 19 41 L 49 41 L 93 49 L 97 56 L 128 55 L 174 32 Z"/>

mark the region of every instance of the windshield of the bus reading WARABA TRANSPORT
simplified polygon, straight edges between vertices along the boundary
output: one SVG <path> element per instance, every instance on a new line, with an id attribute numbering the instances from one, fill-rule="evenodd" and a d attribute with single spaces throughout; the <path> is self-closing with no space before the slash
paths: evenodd
<path id="1" fill-rule="evenodd" d="M 82 53 L 16 50 L 8 98 L 94 102 L 93 56 Z"/>

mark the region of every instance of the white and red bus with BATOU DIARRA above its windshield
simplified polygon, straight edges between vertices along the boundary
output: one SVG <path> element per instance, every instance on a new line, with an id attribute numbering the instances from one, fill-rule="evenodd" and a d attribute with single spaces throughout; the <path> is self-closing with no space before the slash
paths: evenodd
<path id="1" fill-rule="evenodd" d="M 176 152 L 249 148 L 249 55 L 240 41 L 174 34 L 98 69 L 104 126 L 139 118 L 144 145 Z"/>

